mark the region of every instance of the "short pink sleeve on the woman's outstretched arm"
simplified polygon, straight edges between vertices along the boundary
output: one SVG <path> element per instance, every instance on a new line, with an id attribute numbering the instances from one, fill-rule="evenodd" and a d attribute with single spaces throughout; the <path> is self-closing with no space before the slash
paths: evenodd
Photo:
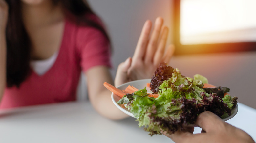
<path id="1" fill-rule="evenodd" d="M 96 28 L 79 27 L 76 45 L 83 71 L 98 65 L 112 67 L 109 41 Z"/>

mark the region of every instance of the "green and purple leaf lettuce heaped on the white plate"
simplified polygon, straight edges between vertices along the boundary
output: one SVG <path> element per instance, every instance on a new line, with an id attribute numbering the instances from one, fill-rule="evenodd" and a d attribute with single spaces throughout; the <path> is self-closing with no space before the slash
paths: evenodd
<path id="1" fill-rule="evenodd" d="M 237 97 L 230 96 L 227 87 L 204 88 L 205 85 L 209 85 L 208 80 L 202 75 L 185 77 L 178 69 L 161 63 L 149 86 L 158 97 L 150 97 L 145 87 L 127 93 L 117 103 L 124 104 L 139 121 L 139 127 L 144 126 L 149 135 L 161 134 L 161 131 L 172 134 L 194 124 L 204 111 L 219 117 L 231 115 Z"/>

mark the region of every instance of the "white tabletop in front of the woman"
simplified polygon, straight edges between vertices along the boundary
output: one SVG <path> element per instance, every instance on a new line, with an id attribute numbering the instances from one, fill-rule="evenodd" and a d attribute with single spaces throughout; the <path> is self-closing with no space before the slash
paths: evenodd
<path id="1" fill-rule="evenodd" d="M 238 103 L 237 115 L 227 122 L 256 140 L 256 110 Z M 201 132 L 196 128 L 194 133 Z M 112 121 L 100 116 L 90 102 L 68 102 L 0 111 L 3 143 L 171 143 L 164 135 L 150 137 L 129 117 Z"/>

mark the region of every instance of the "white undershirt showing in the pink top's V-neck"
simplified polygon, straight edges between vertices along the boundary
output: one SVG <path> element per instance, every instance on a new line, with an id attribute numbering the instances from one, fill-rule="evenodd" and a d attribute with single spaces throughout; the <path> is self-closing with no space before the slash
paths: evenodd
<path id="1" fill-rule="evenodd" d="M 57 59 L 57 56 L 59 54 L 59 51 L 57 50 L 53 56 L 49 57 L 48 59 L 45 60 L 32 60 L 30 62 L 31 68 L 36 72 L 38 75 L 43 75 L 45 74 L 48 70 L 51 69 L 53 66 L 54 62 Z"/>

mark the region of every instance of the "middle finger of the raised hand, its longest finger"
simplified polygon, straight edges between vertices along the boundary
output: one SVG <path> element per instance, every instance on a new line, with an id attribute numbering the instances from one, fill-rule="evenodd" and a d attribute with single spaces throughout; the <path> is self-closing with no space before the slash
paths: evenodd
<path id="1" fill-rule="evenodd" d="M 155 21 L 154 29 L 146 49 L 145 62 L 147 63 L 153 62 L 153 56 L 157 49 L 157 41 L 160 35 L 162 24 L 163 19 L 158 17 Z"/>

